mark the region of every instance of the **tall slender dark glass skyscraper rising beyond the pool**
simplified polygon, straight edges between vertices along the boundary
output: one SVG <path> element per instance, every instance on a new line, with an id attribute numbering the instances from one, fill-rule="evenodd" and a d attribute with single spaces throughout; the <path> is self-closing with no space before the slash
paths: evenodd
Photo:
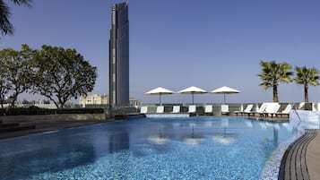
<path id="1" fill-rule="evenodd" d="M 129 19 L 128 4 L 112 5 L 109 39 L 109 103 L 129 104 Z"/>

